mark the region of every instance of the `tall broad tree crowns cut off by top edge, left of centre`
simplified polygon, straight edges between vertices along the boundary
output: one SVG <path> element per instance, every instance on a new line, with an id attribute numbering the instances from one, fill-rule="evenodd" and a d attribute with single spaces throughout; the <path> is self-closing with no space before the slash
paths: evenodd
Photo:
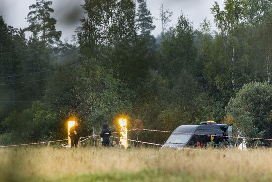
<path id="1" fill-rule="evenodd" d="M 80 20 L 77 35 L 80 52 L 87 58 L 100 57 L 101 51 L 108 53 L 105 46 L 132 43 L 136 37 L 132 0 L 85 0 L 83 9 L 88 16 Z"/>

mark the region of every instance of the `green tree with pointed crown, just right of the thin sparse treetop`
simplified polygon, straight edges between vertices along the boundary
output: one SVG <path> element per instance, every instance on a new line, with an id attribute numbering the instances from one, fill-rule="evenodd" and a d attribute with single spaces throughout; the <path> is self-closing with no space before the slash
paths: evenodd
<path id="1" fill-rule="evenodd" d="M 173 82 L 180 76 L 181 70 L 191 70 L 195 60 L 193 27 L 185 15 L 182 14 L 176 27 L 165 35 L 161 52 L 159 70 L 164 77 L 170 80 L 173 86 Z"/>

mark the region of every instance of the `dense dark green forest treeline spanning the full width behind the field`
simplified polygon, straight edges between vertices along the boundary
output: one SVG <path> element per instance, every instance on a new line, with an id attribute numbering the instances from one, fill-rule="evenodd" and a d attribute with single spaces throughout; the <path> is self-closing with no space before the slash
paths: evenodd
<path id="1" fill-rule="evenodd" d="M 215 2 L 218 32 L 207 19 L 194 30 L 182 13 L 166 30 L 172 13 L 161 5 L 157 38 L 146 1 L 137 4 L 85 0 L 73 45 L 60 41 L 51 1 L 30 6 L 25 29 L 0 17 L 1 143 L 65 137 L 70 116 L 85 134 L 102 123 L 116 130 L 116 118 L 126 115 L 131 128 L 173 130 L 212 119 L 242 135 L 272 137 L 270 0 L 225 0 L 223 10 Z"/>

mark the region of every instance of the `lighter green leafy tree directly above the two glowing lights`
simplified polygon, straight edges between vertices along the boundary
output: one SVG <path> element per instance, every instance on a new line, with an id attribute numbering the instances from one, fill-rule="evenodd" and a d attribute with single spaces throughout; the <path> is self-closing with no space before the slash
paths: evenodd
<path id="1" fill-rule="evenodd" d="M 131 92 L 114 79 L 112 74 L 99 66 L 92 66 L 91 61 L 83 63 L 80 85 L 76 88 L 77 99 L 80 102 L 78 112 L 85 120 L 99 126 L 102 123 L 114 121 L 119 113 L 131 110 L 129 102 Z"/>

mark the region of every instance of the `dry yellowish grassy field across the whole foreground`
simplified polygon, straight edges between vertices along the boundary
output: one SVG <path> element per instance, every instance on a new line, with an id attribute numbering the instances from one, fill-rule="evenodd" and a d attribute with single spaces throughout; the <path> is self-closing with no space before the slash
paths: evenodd
<path id="1" fill-rule="evenodd" d="M 272 149 L 0 149 L 0 182 L 272 182 Z"/>

